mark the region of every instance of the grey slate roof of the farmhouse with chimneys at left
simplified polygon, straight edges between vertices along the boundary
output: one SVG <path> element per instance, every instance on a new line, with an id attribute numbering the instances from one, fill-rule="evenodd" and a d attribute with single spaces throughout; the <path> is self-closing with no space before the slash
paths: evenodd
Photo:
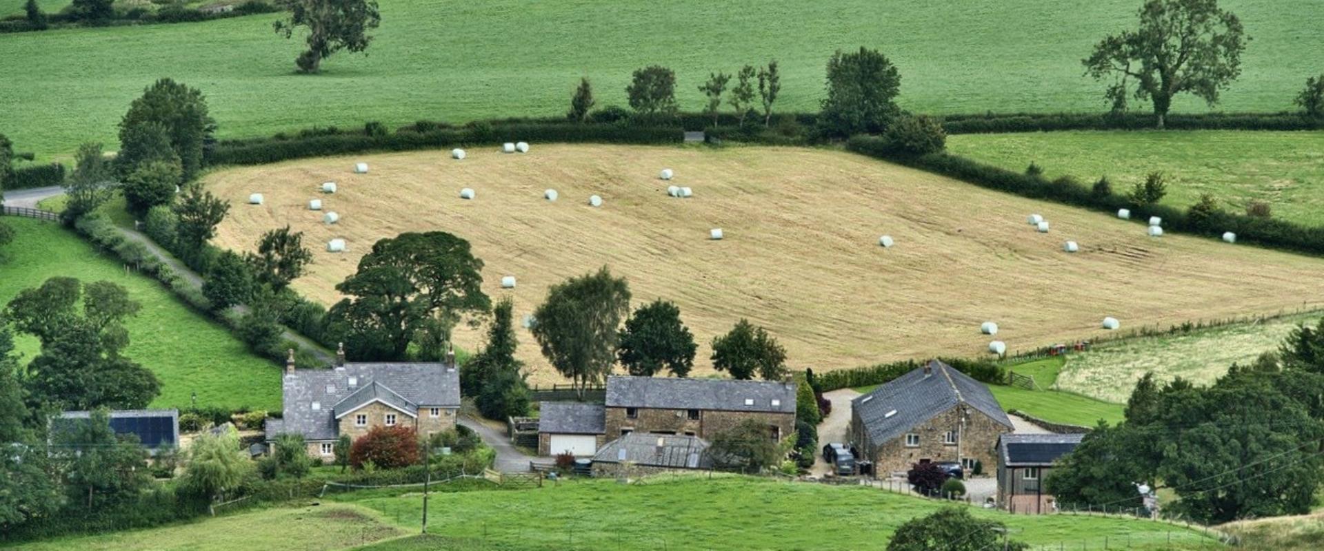
<path id="1" fill-rule="evenodd" d="M 371 394 L 346 402 L 365 387 L 372 387 Z M 459 373 L 445 363 L 346 363 L 286 373 L 281 383 L 285 416 L 278 423 L 266 422 L 266 437 L 274 440 L 278 433 L 293 432 L 306 440 L 335 440 L 338 412 L 389 394 L 397 396 L 389 398 L 395 404 L 401 404 L 400 400 L 413 404 L 414 415 L 418 407 L 459 407 Z"/>

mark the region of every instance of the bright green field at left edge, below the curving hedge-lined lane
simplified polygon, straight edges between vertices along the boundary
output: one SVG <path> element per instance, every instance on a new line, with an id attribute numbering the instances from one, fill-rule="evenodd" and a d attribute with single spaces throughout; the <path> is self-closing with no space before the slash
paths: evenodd
<path id="1" fill-rule="evenodd" d="M 197 392 L 199 406 L 279 410 L 281 370 L 248 353 L 221 325 L 191 311 L 184 303 L 142 275 L 98 254 L 90 244 L 56 223 L 3 218 L 17 235 L 0 250 L 0 304 L 48 277 L 71 276 L 82 281 L 110 280 L 128 288 L 143 309 L 127 325 L 131 344 L 126 355 L 156 373 L 162 394 L 155 407 L 185 407 Z M 19 351 L 30 359 L 36 338 L 20 336 Z"/>

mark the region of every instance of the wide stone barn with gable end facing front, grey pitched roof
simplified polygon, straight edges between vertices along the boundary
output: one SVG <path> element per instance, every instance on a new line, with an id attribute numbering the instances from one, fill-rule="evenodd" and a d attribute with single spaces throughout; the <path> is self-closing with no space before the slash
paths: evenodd
<path id="1" fill-rule="evenodd" d="M 925 461 L 960 461 L 967 473 L 997 465 L 1012 420 L 988 387 L 931 361 L 851 400 L 850 437 L 878 476 Z"/>

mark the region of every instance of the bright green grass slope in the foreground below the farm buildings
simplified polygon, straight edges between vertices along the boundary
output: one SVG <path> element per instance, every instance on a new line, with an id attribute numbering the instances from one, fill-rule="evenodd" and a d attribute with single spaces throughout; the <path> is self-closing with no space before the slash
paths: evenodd
<path id="1" fill-rule="evenodd" d="M 408 494 L 355 502 L 400 526 L 417 527 L 421 501 Z M 873 488 L 735 476 L 636 485 L 593 480 L 445 494 L 429 502 L 428 531 L 516 550 L 817 550 L 842 538 L 882 548 L 903 522 L 940 506 Z M 1082 548 L 1082 543 L 1103 548 L 1104 538 L 1119 548 L 1128 542 L 1132 548 L 1196 548 L 1202 542 L 1194 531 L 1151 521 L 1009 515 L 977 507 L 973 513 L 1005 522 L 1016 539 L 1053 548 Z M 1173 547 L 1166 546 L 1169 533 Z M 429 547 L 406 539 L 371 548 Z"/>

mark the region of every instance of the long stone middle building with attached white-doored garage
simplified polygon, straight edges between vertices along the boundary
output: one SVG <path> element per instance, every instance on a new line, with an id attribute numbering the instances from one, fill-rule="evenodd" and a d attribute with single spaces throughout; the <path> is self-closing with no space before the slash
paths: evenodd
<path id="1" fill-rule="evenodd" d="M 540 415 L 540 455 L 594 456 L 604 441 L 632 433 L 711 439 L 745 419 L 780 440 L 796 429 L 796 383 L 608 377 L 605 404 L 548 403 Z"/>

